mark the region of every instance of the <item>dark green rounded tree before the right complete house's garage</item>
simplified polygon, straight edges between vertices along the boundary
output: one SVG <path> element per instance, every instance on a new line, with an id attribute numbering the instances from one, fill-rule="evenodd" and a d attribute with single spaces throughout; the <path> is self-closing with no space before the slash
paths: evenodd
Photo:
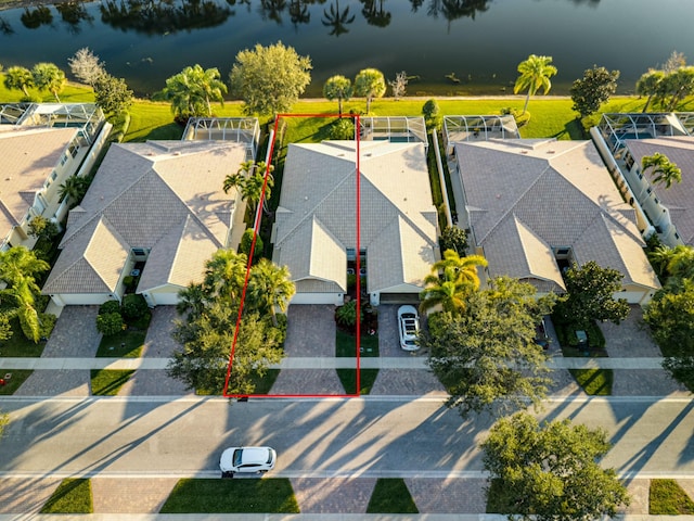
<path id="1" fill-rule="evenodd" d="M 621 291 L 621 275 L 612 268 L 602 268 L 594 260 L 570 267 L 565 276 L 567 298 L 556 306 L 556 313 L 565 322 L 588 328 L 593 320 L 619 323 L 629 315 L 629 303 L 615 298 Z"/>

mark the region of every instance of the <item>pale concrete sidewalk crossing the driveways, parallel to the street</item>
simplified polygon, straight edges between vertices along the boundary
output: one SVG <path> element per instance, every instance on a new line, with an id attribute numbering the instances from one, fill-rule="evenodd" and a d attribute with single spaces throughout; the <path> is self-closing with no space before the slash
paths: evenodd
<path id="1" fill-rule="evenodd" d="M 76 369 L 166 369 L 170 358 L 0 358 L 0 368 L 34 370 Z M 422 356 L 361 358 L 362 369 L 422 369 L 427 370 L 426 358 Z M 563 358 L 554 357 L 548 363 L 550 369 L 663 369 L 663 358 Z M 290 357 L 273 369 L 354 369 L 355 358 L 336 357 Z M 1 377 L 1 374 L 0 374 Z"/>

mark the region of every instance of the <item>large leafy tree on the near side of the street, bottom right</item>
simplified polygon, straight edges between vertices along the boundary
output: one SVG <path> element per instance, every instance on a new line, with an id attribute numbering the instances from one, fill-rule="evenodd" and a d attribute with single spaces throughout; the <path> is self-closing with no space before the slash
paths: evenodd
<path id="1" fill-rule="evenodd" d="M 569 420 L 538 423 L 528 414 L 502 418 L 481 444 L 488 501 L 509 519 L 593 521 L 614 517 L 629 495 L 600 460 L 611 444 L 603 430 Z"/>

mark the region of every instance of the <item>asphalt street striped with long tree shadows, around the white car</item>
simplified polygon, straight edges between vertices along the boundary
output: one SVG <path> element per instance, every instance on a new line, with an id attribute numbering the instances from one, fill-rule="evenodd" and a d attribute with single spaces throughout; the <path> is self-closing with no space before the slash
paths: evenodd
<path id="1" fill-rule="evenodd" d="M 231 445 L 270 445 L 274 475 L 479 475 L 476 448 L 491 422 L 462 420 L 440 398 L 0 399 L 11 414 L 0 475 L 217 475 Z M 541 417 L 570 417 L 608 432 L 605 465 L 622 475 L 694 478 L 689 398 L 551 401 Z"/>

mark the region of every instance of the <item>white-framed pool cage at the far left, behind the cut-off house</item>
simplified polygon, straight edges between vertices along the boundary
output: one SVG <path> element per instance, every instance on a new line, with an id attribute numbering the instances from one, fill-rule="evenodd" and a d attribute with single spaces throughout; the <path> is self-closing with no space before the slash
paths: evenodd
<path id="1" fill-rule="evenodd" d="M 99 132 L 104 114 L 95 103 L 7 103 L 0 105 L 0 124 L 22 127 L 79 128 L 89 143 Z"/>

